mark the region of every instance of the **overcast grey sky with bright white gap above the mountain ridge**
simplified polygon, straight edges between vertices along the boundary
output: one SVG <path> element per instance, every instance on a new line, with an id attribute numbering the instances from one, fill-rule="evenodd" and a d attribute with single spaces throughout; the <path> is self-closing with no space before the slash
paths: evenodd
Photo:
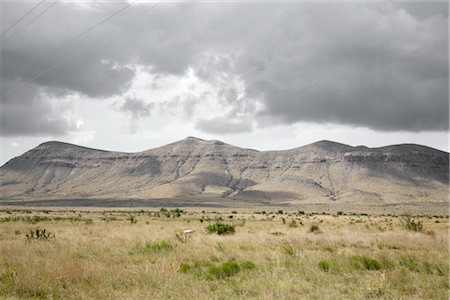
<path id="1" fill-rule="evenodd" d="M 0 164 L 49 140 L 448 151 L 448 5 L 0 2 Z"/>

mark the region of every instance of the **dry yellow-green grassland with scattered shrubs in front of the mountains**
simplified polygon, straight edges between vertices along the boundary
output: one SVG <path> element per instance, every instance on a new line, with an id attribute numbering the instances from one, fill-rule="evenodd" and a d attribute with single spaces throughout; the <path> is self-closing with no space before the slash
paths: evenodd
<path id="1" fill-rule="evenodd" d="M 0 297 L 448 299 L 448 217 L 413 217 L 412 227 L 406 220 L 278 210 L 4 210 Z M 235 233 L 207 233 L 217 222 Z M 31 235 L 37 229 L 39 237 Z"/>

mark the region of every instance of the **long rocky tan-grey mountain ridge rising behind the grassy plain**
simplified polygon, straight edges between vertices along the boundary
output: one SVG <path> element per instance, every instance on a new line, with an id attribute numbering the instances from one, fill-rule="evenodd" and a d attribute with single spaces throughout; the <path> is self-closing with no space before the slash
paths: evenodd
<path id="1" fill-rule="evenodd" d="M 446 202 L 448 153 L 321 141 L 259 152 L 193 137 L 139 153 L 47 142 L 0 168 L 5 199 Z"/>

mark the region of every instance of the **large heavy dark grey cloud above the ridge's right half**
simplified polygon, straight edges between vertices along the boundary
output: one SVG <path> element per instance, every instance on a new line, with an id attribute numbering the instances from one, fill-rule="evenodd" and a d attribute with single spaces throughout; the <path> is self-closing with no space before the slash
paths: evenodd
<path id="1" fill-rule="evenodd" d="M 296 8 L 272 22 L 276 43 L 256 35 L 236 64 L 264 106 L 260 125 L 448 129 L 448 17 L 372 4 Z"/>

